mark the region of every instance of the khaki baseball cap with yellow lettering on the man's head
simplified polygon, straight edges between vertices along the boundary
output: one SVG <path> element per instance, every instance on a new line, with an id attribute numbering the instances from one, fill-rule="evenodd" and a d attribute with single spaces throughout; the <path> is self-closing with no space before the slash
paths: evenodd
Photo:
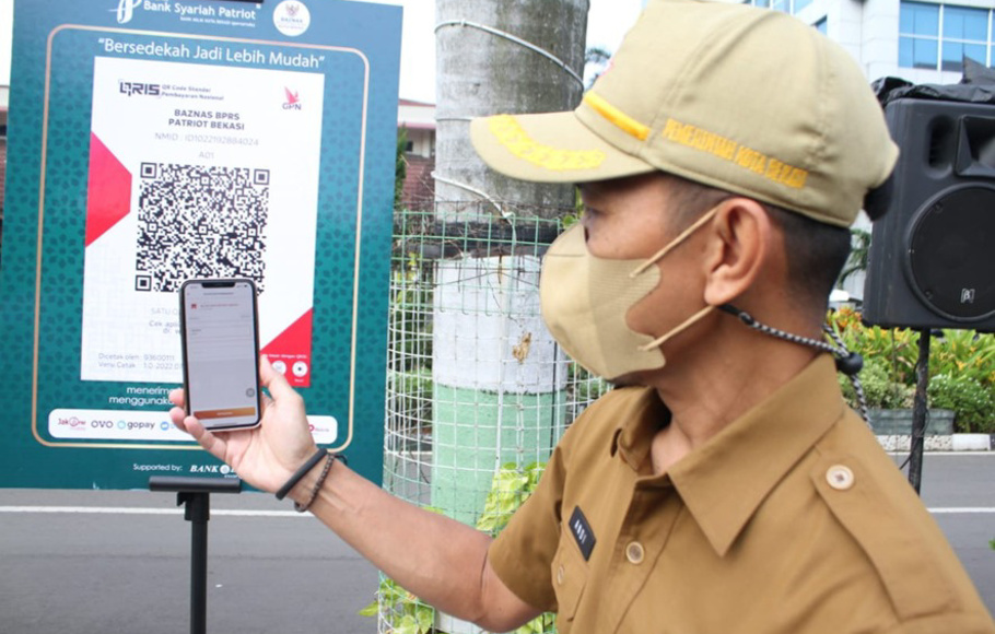
<path id="1" fill-rule="evenodd" d="M 585 183 L 659 169 L 848 226 L 898 158 L 855 60 L 797 19 L 651 0 L 574 111 L 470 126 L 494 169 Z"/>

